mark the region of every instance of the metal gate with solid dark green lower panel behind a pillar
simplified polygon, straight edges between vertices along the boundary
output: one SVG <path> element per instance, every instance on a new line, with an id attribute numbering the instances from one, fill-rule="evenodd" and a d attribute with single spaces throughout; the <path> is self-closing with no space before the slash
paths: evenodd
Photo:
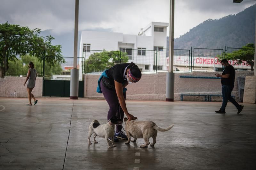
<path id="1" fill-rule="evenodd" d="M 43 62 L 43 96 L 69 97 L 70 71 L 73 69 L 73 57 L 63 57 L 65 63 L 50 66 Z M 84 97 L 84 58 L 77 57 L 79 70 L 78 97 Z"/>

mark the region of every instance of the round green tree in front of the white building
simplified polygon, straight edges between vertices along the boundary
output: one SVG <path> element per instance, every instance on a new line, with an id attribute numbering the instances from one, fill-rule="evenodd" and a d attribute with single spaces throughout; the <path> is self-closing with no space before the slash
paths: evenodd
<path id="1" fill-rule="evenodd" d="M 89 56 L 89 58 L 84 63 L 84 72 L 102 72 L 120 62 L 126 63 L 128 60 L 129 57 L 126 55 L 126 53 L 120 51 L 103 50 L 102 52 L 93 53 Z"/>

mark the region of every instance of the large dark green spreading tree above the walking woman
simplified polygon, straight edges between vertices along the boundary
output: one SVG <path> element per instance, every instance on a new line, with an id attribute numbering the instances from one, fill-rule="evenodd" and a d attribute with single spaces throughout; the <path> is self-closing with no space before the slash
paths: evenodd
<path id="1" fill-rule="evenodd" d="M 39 36 L 40 29 L 30 30 L 27 26 L 12 25 L 6 22 L 0 24 L 0 64 L 3 75 L 7 70 L 7 64 L 10 61 L 17 61 L 18 56 L 34 55 L 39 61 L 45 61 L 50 65 L 55 63 L 64 63 L 61 57 L 61 46 L 53 46 L 51 41 L 54 39 L 50 36 Z"/>

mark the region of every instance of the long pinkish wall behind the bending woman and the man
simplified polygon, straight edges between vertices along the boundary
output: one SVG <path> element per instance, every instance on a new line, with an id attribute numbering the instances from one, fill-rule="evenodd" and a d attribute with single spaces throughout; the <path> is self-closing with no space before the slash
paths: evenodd
<path id="1" fill-rule="evenodd" d="M 180 94 L 221 94 L 220 79 L 211 78 L 180 78 L 180 76 L 191 77 L 216 77 L 215 72 L 192 72 L 175 73 L 174 100 L 180 100 Z M 218 72 L 221 74 L 221 72 Z M 236 71 L 235 87 L 232 95 L 238 100 L 238 76 L 250 76 L 253 71 Z M 86 98 L 104 98 L 102 94 L 96 92 L 97 81 L 100 75 L 84 75 L 84 97 Z M 127 100 L 165 100 L 166 92 L 166 73 L 142 74 L 138 83 L 127 86 Z M 184 96 L 184 100 L 203 100 L 202 97 Z M 221 101 L 221 97 L 212 97 L 212 100 Z"/>

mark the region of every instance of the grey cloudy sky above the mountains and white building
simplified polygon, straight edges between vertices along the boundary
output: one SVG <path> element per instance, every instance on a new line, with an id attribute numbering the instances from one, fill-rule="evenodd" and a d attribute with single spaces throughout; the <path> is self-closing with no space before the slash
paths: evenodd
<path id="1" fill-rule="evenodd" d="M 256 1 L 175 0 L 174 38 L 204 20 L 236 14 L 253 4 Z M 170 0 L 80 0 L 79 30 L 138 34 L 151 21 L 169 22 L 169 8 Z M 74 18 L 75 0 L 1 0 L 0 23 L 62 34 L 73 31 Z"/>

